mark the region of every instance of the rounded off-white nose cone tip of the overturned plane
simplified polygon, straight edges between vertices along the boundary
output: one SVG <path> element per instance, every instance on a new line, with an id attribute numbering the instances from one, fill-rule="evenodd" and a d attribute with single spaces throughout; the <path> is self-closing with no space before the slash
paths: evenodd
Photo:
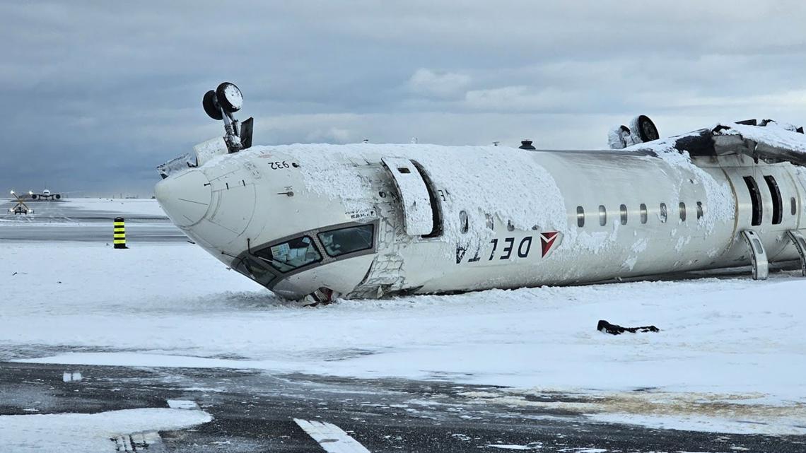
<path id="1" fill-rule="evenodd" d="M 192 226 L 210 207 L 210 181 L 199 170 L 187 170 L 158 182 L 154 195 L 177 226 Z"/>

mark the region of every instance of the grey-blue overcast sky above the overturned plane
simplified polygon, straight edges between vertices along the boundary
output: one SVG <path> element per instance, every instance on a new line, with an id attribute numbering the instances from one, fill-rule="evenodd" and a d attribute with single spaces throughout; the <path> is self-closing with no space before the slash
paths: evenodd
<path id="1" fill-rule="evenodd" d="M 806 2 L 0 3 L 2 186 L 150 196 L 155 168 L 222 135 L 255 143 L 603 148 L 724 120 L 806 123 Z M 2 188 L 0 188 L 2 189 Z"/>

